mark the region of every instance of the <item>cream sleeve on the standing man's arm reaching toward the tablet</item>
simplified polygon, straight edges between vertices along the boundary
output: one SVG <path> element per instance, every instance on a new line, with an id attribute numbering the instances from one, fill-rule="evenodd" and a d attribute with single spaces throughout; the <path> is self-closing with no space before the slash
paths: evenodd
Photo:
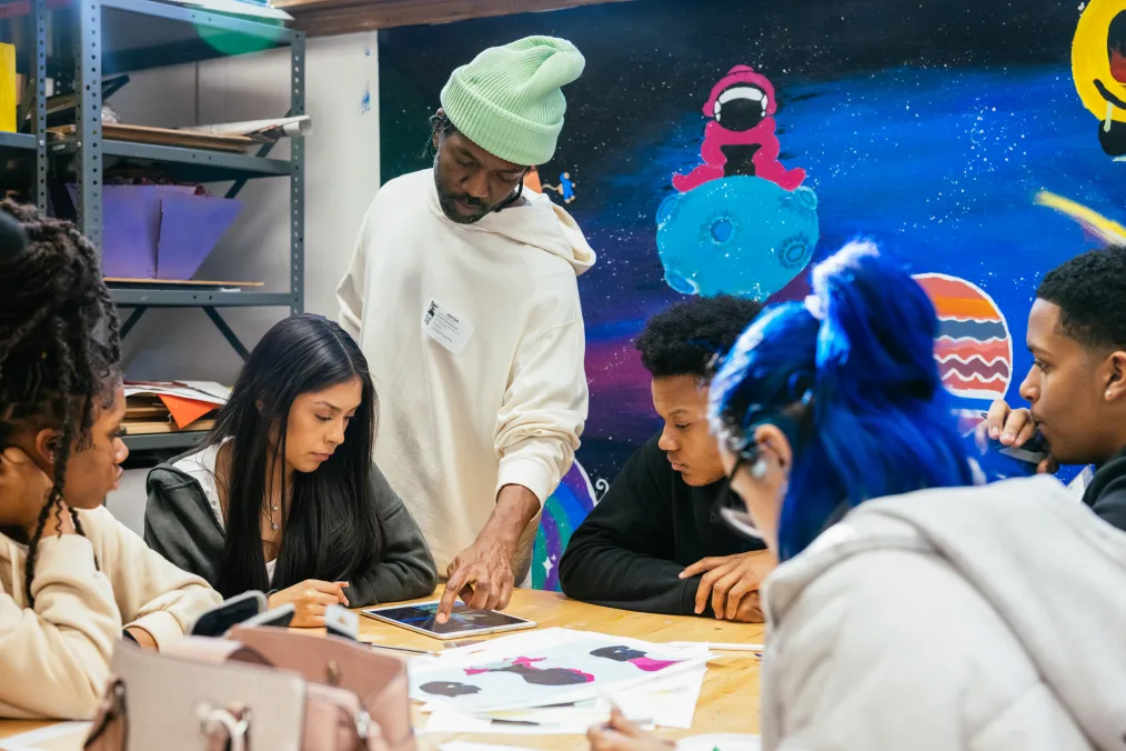
<path id="1" fill-rule="evenodd" d="M 522 485 L 547 500 L 574 462 L 589 394 L 582 318 L 521 347 L 497 414 L 497 491 Z"/>

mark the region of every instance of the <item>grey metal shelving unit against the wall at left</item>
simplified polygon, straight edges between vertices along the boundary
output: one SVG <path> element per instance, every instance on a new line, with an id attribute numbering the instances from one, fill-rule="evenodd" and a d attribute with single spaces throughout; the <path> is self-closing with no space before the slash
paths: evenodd
<path id="1" fill-rule="evenodd" d="M 47 44 L 47 15 L 52 15 L 52 39 Z M 32 0 L 27 20 L 35 46 L 27 51 L 34 71 L 35 111 L 32 133 L 0 133 L 0 154 L 34 155 L 33 194 L 47 207 L 47 171 L 73 169 L 78 185 L 78 223 L 82 233 L 101 247 L 101 188 L 107 169 L 128 160 L 152 164 L 186 182 L 233 181 L 226 197 L 233 198 L 248 180 L 289 179 L 289 289 L 278 293 L 185 290 L 182 288 L 114 289 L 114 301 L 129 312 L 122 336 L 154 307 L 198 307 L 243 357 L 247 348 L 220 313 L 224 307 L 304 307 L 305 147 L 303 138 L 291 140 L 289 159 L 272 159 L 270 146 L 254 155 L 200 149 L 110 141 L 102 136 L 101 80 L 119 72 L 161 68 L 214 57 L 289 47 L 289 115 L 305 114 L 305 35 L 275 23 L 258 21 L 195 10 L 157 0 L 70 0 L 48 11 L 47 0 Z M 69 51 L 69 53 L 68 53 Z M 46 79 L 55 80 L 55 92 L 78 92 L 75 134 L 47 142 Z M 202 432 L 128 437 L 134 450 L 186 448 Z"/>

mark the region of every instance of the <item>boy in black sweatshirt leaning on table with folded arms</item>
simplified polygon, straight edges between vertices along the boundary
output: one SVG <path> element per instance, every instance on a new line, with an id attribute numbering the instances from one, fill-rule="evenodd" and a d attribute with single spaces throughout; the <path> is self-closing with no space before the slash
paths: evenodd
<path id="1" fill-rule="evenodd" d="M 696 297 L 650 320 L 636 347 L 664 428 L 626 463 L 571 537 L 560 561 L 569 597 L 762 622 L 756 590 L 776 561 L 720 517 L 731 490 L 707 426 L 708 366 L 760 310 L 749 299 Z"/>

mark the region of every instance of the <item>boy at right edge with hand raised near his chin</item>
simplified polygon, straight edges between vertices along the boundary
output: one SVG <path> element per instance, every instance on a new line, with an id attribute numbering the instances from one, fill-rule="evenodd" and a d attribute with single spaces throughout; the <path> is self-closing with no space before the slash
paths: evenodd
<path id="1" fill-rule="evenodd" d="M 1083 502 L 1126 530 L 1126 248 L 1092 250 L 1049 271 L 1028 315 L 1033 368 L 1020 395 L 1033 409 L 990 409 L 983 429 L 1006 446 L 1037 430 L 1052 447 L 1040 465 L 1093 464 Z"/>

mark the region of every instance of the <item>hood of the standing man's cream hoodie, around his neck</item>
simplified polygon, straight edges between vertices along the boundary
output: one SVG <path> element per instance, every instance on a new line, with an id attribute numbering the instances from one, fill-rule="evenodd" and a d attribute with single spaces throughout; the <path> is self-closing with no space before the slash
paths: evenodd
<path id="1" fill-rule="evenodd" d="M 443 221 L 449 222 L 438 203 L 438 187 L 434 182 L 434 170 L 426 170 L 426 172 L 430 185 L 431 211 Z M 582 234 L 574 217 L 543 194 L 525 188 L 522 195 L 526 202 L 522 206 L 510 206 L 500 212 L 491 212 L 479 222 L 458 226 L 471 232 L 498 234 L 513 242 L 558 256 L 571 265 L 575 276 L 582 275 L 592 267 L 596 260 L 595 251 L 587 242 L 587 238 Z"/>

